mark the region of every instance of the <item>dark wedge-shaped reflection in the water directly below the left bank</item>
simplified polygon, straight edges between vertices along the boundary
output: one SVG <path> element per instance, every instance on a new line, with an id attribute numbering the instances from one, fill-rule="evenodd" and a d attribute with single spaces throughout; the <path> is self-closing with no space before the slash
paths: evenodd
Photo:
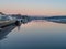
<path id="1" fill-rule="evenodd" d="M 15 25 L 10 25 L 10 26 L 7 26 L 7 27 L 4 27 L 4 28 L 2 28 L 1 30 L 0 30 L 0 40 L 1 39 L 4 39 L 6 38 L 6 36 L 11 32 L 11 30 L 13 30 L 15 28 Z"/>

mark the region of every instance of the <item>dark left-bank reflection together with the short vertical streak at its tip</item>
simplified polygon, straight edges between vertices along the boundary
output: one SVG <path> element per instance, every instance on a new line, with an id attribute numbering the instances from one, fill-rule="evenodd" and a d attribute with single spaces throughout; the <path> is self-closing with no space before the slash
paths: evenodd
<path id="1" fill-rule="evenodd" d="M 21 23 L 19 23 L 18 25 L 16 24 L 11 24 L 9 26 L 6 26 L 3 28 L 1 28 L 0 30 L 0 40 L 7 38 L 6 36 L 12 32 L 15 27 L 18 27 L 18 30 L 20 30 L 20 26 L 21 26 Z"/>

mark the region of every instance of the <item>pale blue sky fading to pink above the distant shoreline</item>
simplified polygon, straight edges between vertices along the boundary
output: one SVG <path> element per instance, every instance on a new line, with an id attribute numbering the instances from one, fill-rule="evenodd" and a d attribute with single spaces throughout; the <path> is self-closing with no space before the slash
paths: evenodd
<path id="1" fill-rule="evenodd" d="M 0 12 L 24 15 L 66 15 L 66 0 L 0 0 Z"/>

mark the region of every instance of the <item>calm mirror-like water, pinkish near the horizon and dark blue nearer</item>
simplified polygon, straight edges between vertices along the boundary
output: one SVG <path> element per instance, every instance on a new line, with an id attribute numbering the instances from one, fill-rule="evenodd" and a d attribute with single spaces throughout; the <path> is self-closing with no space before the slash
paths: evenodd
<path id="1" fill-rule="evenodd" d="M 0 34 L 0 49 L 66 49 L 66 24 L 32 21 L 8 26 Z"/>

